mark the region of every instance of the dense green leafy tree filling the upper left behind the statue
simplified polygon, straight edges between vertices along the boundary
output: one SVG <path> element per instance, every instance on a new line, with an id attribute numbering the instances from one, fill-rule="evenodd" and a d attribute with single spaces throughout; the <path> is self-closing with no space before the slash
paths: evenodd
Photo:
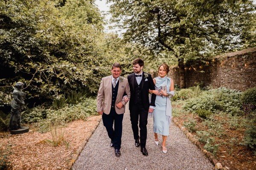
<path id="1" fill-rule="evenodd" d="M 18 81 L 25 82 L 30 105 L 71 91 L 96 92 L 106 73 L 96 42 L 102 18 L 93 2 L 67 0 L 56 8 L 52 0 L 0 0 L 0 106 L 8 105 Z"/>

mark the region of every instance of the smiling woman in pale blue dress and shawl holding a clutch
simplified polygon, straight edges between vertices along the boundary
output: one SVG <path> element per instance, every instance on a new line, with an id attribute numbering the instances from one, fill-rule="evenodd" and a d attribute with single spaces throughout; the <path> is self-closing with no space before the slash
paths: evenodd
<path id="1" fill-rule="evenodd" d="M 167 153 L 166 138 L 169 135 L 169 126 L 172 119 L 172 106 L 169 98 L 174 95 L 174 82 L 173 79 L 167 77 L 169 66 L 165 63 L 158 67 L 159 77 L 153 79 L 156 90 L 149 90 L 149 93 L 157 95 L 155 101 L 154 116 L 154 142 L 158 145 L 158 136 L 163 136 L 162 151 Z"/>

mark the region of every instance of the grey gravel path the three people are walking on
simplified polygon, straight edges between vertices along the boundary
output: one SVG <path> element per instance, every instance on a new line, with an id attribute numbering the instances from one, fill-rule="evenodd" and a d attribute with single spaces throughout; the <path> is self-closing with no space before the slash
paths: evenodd
<path id="1" fill-rule="evenodd" d="M 147 127 L 148 156 L 143 156 L 140 147 L 135 147 L 129 110 L 126 107 L 123 119 L 121 156 L 116 157 L 101 121 L 72 170 L 214 170 L 209 160 L 174 123 L 171 124 L 170 134 L 167 137 L 168 152 L 166 154 L 162 153 L 160 136 L 159 145 L 154 144 L 153 120 L 151 118 L 148 118 Z"/>

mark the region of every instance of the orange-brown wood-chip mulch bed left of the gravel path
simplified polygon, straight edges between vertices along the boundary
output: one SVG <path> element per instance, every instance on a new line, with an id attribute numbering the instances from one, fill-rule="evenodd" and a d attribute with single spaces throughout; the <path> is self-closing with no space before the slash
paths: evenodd
<path id="1" fill-rule="evenodd" d="M 90 116 L 87 121 L 73 121 L 64 128 L 64 141 L 53 146 L 46 142 L 52 140 L 50 132 L 10 135 L 0 132 L 0 149 L 11 145 L 8 170 L 66 170 L 81 143 L 98 125 L 101 116 Z"/>

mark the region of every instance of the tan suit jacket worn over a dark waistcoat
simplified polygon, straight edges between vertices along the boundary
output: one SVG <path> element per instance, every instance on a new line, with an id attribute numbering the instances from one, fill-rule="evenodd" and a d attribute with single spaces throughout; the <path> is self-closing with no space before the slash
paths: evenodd
<path id="1" fill-rule="evenodd" d="M 100 86 L 99 92 L 97 96 L 97 112 L 103 111 L 105 114 L 110 113 L 111 109 L 111 100 L 112 100 L 112 79 L 111 76 L 103 77 Z M 128 84 L 128 80 L 124 77 L 119 77 L 119 85 L 118 92 L 116 96 L 115 110 L 117 114 L 125 113 L 125 105 L 126 102 L 123 99 L 124 93 L 127 94 L 128 99 L 130 99 L 130 87 Z M 117 108 L 116 104 L 122 102 L 124 105 L 122 108 Z"/>

